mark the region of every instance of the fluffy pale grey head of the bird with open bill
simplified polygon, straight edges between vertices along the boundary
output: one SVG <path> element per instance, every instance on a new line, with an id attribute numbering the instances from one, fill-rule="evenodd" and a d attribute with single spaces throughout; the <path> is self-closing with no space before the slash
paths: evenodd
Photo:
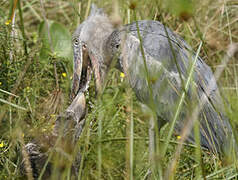
<path id="1" fill-rule="evenodd" d="M 100 89 L 108 64 L 105 60 L 104 47 L 113 30 L 108 16 L 102 9 L 92 4 L 90 15 L 73 34 L 74 71 L 77 71 L 74 73 L 75 78 L 73 79 L 72 91 L 74 93 L 77 92 L 78 80 L 83 78 L 81 78 L 82 68 L 86 69 L 85 66 L 89 61 L 96 77 L 97 87 Z"/>

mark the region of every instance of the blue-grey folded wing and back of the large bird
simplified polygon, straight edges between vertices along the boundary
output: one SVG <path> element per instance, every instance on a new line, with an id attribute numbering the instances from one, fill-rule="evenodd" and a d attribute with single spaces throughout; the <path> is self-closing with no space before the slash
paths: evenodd
<path id="1" fill-rule="evenodd" d="M 121 42 L 121 66 L 128 74 L 138 99 L 149 104 L 149 90 L 143 64 L 143 58 L 146 59 L 157 115 L 169 122 L 173 119 L 184 89 L 183 82 L 186 82 L 192 62 L 195 60 L 195 53 L 180 36 L 158 21 L 138 21 L 138 27 L 141 42 L 136 22 L 124 26 L 116 33 L 124 39 Z M 143 45 L 144 55 L 141 53 L 140 43 Z M 225 116 L 214 75 L 210 67 L 198 57 L 193 82 L 186 93 L 183 109 L 176 123 L 177 133 L 181 132 L 185 121 L 189 120 L 193 110 L 190 107 L 196 107 L 204 95 L 206 102 L 199 114 L 201 145 L 220 153 L 224 151 L 232 130 Z M 193 133 L 188 140 L 194 142 Z"/>

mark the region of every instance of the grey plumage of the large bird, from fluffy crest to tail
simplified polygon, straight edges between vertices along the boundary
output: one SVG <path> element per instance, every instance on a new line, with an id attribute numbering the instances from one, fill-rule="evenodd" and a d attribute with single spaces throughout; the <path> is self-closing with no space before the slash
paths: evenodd
<path id="1" fill-rule="evenodd" d="M 103 83 L 108 71 L 107 67 L 116 58 L 118 69 L 126 74 L 138 100 L 150 105 L 149 88 L 140 48 L 142 43 L 159 124 L 170 122 L 183 92 L 183 82 L 188 78 L 189 69 L 195 59 L 192 48 L 180 36 L 158 21 L 138 21 L 142 39 L 140 42 L 135 22 L 114 29 L 102 10 L 93 10 L 93 12 L 77 28 L 73 39 L 80 41 L 90 52 L 88 58 L 92 70 L 94 73 L 96 71 L 95 79 L 96 81 L 100 79 L 98 83 L 96 82 L 96 86 Z M 74 52 L 81 51 L 79 49 L 80 47 L 74 46 Z M 78 61 L 81 64 L 85 61 L 84 58 L 78 58 L 76 54 L 74 57 L 75 65 Z M 78 71 L 81 72 L 83 69 L 78 68 Z M 75 70 L 77 71 L 76 66 Z M 75 76 L 72 92 L 77 93 L 80 88 L 75 87 L 83 80 L 83 76 L 77 74 Z M 211 88 L 210 95 L 206 90 L 208 85 Z M 225 151 L 232 130 L 213 73 L 200 57 L 197 59 L 193 82 L 186 93 L 175 131 L 181 132 L 185 121 L 189 120 L 191 102 L 197 104 L 204 93 L 206 102 L 198 117 L 201 146 L 214 153 L 221 153 Z M 193 133 L 189 135 L 188 140 L 194 142 Z"/>

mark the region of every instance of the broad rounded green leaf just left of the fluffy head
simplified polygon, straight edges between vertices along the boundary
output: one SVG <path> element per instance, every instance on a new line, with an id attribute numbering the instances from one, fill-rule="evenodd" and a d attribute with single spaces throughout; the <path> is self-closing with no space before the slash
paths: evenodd
<path id="1" fill-rule="evenodd" d="M 41 58 L 72 58 L 71 34 L 61 24 L 54 21 L 40 24 L 39 36 L 42 41 Z"/>

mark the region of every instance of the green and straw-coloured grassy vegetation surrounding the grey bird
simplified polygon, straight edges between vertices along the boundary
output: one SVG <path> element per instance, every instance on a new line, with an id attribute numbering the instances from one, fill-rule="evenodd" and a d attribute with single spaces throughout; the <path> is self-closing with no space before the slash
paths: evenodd
<path id="1" fill-rule="evenodd" d="M 163 22 L 194 50 L 202 41 L 203 60 L 213 70 L 224 68 L 218 84 L 229 102 L 228 115 L 234 126 L 238 125 L 237 53 L 225 67 L 221 66 L 228 46 L 238 41 L 236 0 L 1 0 L 0 179 L 26 178 L 20 173 L 22 148 L 32 139 L 41 140 L 50 133 L 57 115 L 69 105 L 71 34 L 87 18 L 92 3 L 104 8 L 118 25 L 132 22 L 135 12 L 137 20 Z M 112 69 L 110 77 L 100 103 L 93 82 L 86 94 L 87 121 L 77 144 L 83 164 L 79 179 L 144 179 L 150 169 L 150 113 L 142 111 L 123 74 Z M 160 131 L 161 146 L 166 132 L 166 127 Z M 155 157 L 163 175 L 179 138 L 174 136 L 170 141 L 165 157 Z M 184 146 L 176 170 L 169 175 L 171 179 L 238 177 L 238 159 L 232 157 L 224 162 L 206 151 L 200 158 L 196 149 Z M 71 154 L 65 156 L 72 158 Z M 55 173 L 70 179 L 67 169 Z"/>

